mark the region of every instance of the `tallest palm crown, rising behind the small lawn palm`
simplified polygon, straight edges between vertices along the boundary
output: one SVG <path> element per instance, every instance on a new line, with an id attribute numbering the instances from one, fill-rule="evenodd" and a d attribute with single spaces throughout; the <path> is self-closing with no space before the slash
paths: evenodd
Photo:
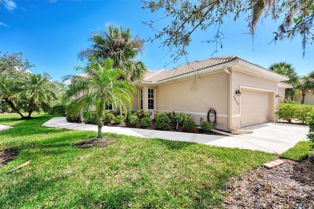
<path id="1" fill-rule="evenodd" d="M 106 29 L 94 31 L 88 39 L 91 46 L 78 53 L 80 59 L 96 58 L 102 63 L 106 58 L 113 60 L 113 67 L 120 68 L 120 79 L 139 80 L 147 72 L 143 62 L 137 59 L 144 52 L 144 41 L 139 35 L 132 36 L 130 28 L 106 25 Z"/>

